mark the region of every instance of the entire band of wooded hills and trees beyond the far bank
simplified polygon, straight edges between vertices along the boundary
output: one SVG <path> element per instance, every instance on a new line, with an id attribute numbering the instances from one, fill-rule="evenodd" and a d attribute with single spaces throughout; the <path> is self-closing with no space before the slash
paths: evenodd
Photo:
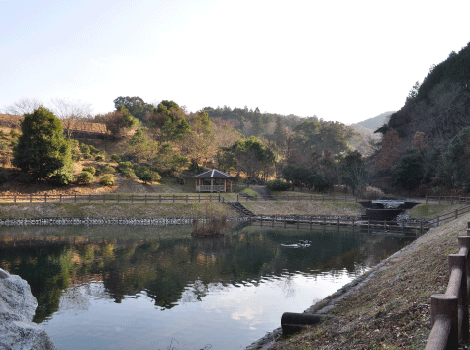
<path id="1" fill-rule="evenodd" d="M 14 175 L 63 185 L 89 183 L 99 174 L 106 185 L 119 173 L 151 183 L 161 176 L 184 181 L 218 168 L 241 182 L 267 182 L 277 190 L 295 185 L 325 192 L 340 185 L 361 194 L 372 185 L 419 195 L 466 193 L 469 84 L 467 45 L 432 66 L 398 112 L 383 114 L 387 122 L 375 139 L 316 116 L 262 113 L 246 106 L 187 112 L 175 101 L 151 104 L 119 96 L 115 110 L 92 115 L 89 105 L 77 101 L 55 99 L 46 108 L 40 101 L 21 100 L 6 110 L 24 119 L 0 134 L 0 180 Z M 11 115 L 2 116 L 4 126 Z M 73 164 L 84 159 L 101 163 L 74 173 Z"/>

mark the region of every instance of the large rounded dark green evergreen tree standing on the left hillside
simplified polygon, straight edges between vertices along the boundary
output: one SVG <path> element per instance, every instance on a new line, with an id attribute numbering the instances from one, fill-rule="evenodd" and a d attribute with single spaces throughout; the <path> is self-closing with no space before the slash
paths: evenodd
<path id="1" fill-rule="evenodd" d="M 21 131 L 13 150 L 13 165 L 31 180 L 52 178 L 61 184 L 73 180 L 71 146 L 65 139 L 60 120 L 51 111 L 39 107 L 26 114 Z"/>

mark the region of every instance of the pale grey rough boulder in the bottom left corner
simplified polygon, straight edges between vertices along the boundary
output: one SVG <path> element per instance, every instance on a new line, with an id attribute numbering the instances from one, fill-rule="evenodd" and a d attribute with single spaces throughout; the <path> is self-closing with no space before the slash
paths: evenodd
<path id="1" fill-rule="evenodd" d="M 46 331 L 31 321 L 37 306 L 28 283 L 0 269 L 0 349 L 56 349 Z"/>

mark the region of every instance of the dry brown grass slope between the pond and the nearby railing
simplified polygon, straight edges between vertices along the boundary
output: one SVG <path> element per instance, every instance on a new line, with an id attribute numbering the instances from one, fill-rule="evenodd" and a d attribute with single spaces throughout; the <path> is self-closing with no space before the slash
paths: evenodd
<path id="1" fill-rule="evenodd" d="M 432 229 L 338 300 L 333 320 L 271 349 L 423 349 L 430 296 L 445 291 L 447 255 L 458 251 L 457 237 L 465 234 L 469 220 L 467 214 Z"/>

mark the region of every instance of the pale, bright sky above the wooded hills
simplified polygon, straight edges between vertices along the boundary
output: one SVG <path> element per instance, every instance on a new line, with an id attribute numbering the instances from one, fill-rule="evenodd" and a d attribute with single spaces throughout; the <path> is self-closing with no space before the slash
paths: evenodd
<path id="1" fill-rule="evenodd" d="M 0 0 L 0 110 L 118 96 L 316 115 L 399 110 L 470 41 L 470 1 Z"/>

